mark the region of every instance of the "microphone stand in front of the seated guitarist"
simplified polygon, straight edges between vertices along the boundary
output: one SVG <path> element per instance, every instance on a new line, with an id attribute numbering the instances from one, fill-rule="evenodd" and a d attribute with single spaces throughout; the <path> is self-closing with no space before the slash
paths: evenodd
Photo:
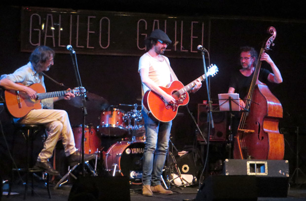
<path id="1" fill-rule="evenodd" d="M 76 52 L 70 51 L 72 63 L 74 65 L 75 73 L 76 73 L 76 81 L 79 87 L 82 86 L 81 78 L 78 71 L 77 60 L 76 60 Z M 75 56 L 75 59 L 74 59 Z M 76 62 L 75 62 L 76 60 Z M 84 141 L 85 141 L 85 117 L 87 115 L 87 108 L 86 108 L 86 99 L 85 94 L 82 94 L 82 114 L 83 114 L 83 124 L 82 124 L 82 139 L 81 139 L 81 167 L 82 167 L 82 175 L 85 175 L 85 161 L 84 161 Z"/>

